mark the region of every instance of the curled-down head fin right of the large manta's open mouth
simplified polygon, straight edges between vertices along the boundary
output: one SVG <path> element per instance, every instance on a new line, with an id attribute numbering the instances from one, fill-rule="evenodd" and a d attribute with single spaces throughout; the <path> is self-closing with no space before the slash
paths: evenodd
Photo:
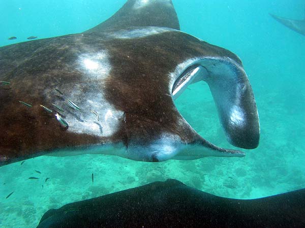
<path id="1" fill-rule="evenodd" d="M 242 66 L 229 57 L 205 58 L 202 78 L 214 97 L 227 140 L 234 146 L 253 149 L 260 137 L 255 98 Z"/>

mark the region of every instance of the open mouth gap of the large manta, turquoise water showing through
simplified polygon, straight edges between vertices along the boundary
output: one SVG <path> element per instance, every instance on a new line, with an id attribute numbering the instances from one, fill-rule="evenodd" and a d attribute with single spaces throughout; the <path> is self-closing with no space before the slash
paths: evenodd
<path id="1" fill-rule="evenodd" d="M 175 81 L 172 87 L 172 97 L 180 115 L 201 137 L 211 139 L 211 141 L 216 139 L 217 142 L 225 142 L 223 139 L 226 136 L 222 130 L 211 130 L 212 128 L 220 129 L 221 126 L 213 97 L 208 85 L 203 81 L 206 74 L 207 70 L 200 65 L 188 67 Z M 210 121 L 207 117 L 210 118 Z M 206 135 L 203 131 L 214 132 L 219 136 Z"/>

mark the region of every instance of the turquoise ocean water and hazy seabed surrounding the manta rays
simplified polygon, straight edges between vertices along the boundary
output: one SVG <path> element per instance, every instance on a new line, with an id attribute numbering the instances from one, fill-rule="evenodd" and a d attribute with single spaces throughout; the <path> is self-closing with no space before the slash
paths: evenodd
<path id="1" fill-rule="evenodd" d="M 105 155 L 42 156 L 22 165 L 19 162 L 0 167 L 0 227 L 36 227 L 50 208 L 167 178 L 239 199 L 305 187 L 305 36 L 269 16 L 272 13 L 302 19 L 305 2 L 172 2 L 182 31 L 227 48 L 241 58 L 258 106 L 259 147 L 245 150 L 245 158 L 145 163 Z M 81 32 L 106 20 L 124 3 L 125 0 L 1 0 L 0 46 L 25 42 L 31 35 L 43 39 Z M 9 41 L 10 36 L 18 39 Z M 191 85 L 175 104 L 202 137 L 233 148 L 225 140 L 205 83 Z M 30 176 L 40 178 L 31 180 Z M 50 179 L 45 182 L 47 177 Z"/>

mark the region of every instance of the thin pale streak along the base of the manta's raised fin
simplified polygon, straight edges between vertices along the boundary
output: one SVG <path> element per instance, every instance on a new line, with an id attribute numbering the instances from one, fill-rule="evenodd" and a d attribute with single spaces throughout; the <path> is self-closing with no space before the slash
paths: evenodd
<path id="1" fill-rule="evenodd" d="M 115 39 L 135 39 L 135 38 L 146 37 L 149 35 L 156 35 L 163 32 L 170 32 L 170 31 L 177 31 L 177 30 L 172 28 L 149 26 L 149 27 L 136 28 L 132 30 L 121 29 L 116 32 L 110 32 L 109 36 Z"/>

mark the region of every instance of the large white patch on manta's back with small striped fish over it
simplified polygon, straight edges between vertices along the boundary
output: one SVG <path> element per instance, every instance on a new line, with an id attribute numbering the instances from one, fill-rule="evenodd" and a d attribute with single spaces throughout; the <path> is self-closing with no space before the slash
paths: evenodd
<path id="1" fill-rule="evenodd" d="M 82 82 L 71 84 L 70 93 L 65 95 L 66 102 L 71 100 L 81 109 L 72 110 L 65 104 L 65 121 L 68 131 L 100 137 L 113 135 L 124 120 L 124 113 L 117 110 L 105 98 L 105 81 L 109 77 L 111 64 L 107 51 L 85 53 L 77 60 L 77 70 L 82 75 Z M 99 121 L 95 113 L 99 115 Z"/>

